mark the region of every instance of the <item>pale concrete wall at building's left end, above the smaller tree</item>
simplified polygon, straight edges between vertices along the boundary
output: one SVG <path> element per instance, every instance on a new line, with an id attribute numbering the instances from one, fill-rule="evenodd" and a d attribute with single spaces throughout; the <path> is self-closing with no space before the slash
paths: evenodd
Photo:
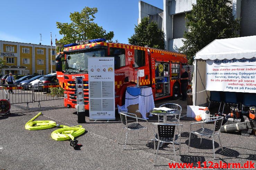
<path id="1" fill-rule="evenodd" d="M 139 19 L 138 23 L 140 23 L 141 19 L 144 17 L 148 17 L 148 15 L 156 15 L 158 13 L 164 12 L 164 10 L 152 6 L 146 2 L 139 1 Z"/>

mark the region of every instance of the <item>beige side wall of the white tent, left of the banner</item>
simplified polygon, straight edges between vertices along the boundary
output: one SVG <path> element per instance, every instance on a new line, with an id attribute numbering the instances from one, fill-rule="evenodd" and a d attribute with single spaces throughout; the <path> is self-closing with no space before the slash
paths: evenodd
<path id="1" fill-rule="evenodd" d="M 193 105 L 207 106 L 210 98 L 210 91 L 205 91 L 206 88 L 206 60 L 195 60 L 195 71 L 193 74 Z"/>

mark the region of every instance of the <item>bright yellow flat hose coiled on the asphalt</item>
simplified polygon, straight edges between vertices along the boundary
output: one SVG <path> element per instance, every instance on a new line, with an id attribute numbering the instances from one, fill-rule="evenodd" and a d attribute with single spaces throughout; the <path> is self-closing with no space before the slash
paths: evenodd
<path id="1" fill-rule="evenodd" d="M 35 120 L 38 116 L 40 116 L 42 113 L 38 113 L 34 118 L 30 119 L 25 124 L 25 129 L 27 130 L 43 130 L 43 129 L 50 129 L 53 127 L 60 127 L 61 129 L 54 130 L 51 134 L 52 138 L 54 140 L 68 140 L 72 139 L 74 140 L 75 137 L 80 136 L 85 132 L 85 128 L 83 128 L 81 125 L 69 127 L 65 125 L 56 124 L 56 122 L 51 120 Z M 36 126 L 34 126 L 36 124 Z"/>

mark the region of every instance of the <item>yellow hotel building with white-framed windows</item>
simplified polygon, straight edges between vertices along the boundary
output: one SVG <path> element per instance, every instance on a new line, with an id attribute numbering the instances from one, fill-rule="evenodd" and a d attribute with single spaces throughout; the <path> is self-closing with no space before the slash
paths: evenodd
<path id="1" fill-rule="evenodd" d="M 52 60 L 51 60 L 52 54 Z M 0 74 L 48 74 L 55 72 L 55 46 L 1 41 L 0 57 L 6 61 Z"/>

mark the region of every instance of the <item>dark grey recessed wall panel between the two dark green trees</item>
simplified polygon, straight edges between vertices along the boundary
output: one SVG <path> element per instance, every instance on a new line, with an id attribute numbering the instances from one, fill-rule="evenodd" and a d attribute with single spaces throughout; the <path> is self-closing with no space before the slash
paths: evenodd
<path id="1" fill-rule="evenodd" d="M 185 13 L 176 14 L 173 16 L 173 39 L 183 38 L 186 28 Z"/>

